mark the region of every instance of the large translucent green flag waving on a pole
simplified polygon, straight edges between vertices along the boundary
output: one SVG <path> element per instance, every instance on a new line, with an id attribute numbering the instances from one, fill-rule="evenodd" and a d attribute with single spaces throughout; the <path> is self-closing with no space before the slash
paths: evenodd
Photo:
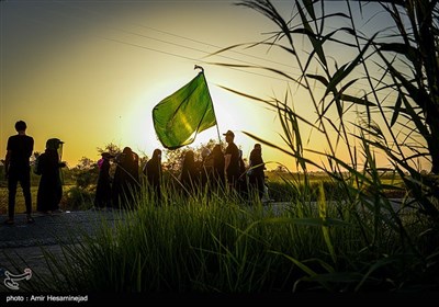
<path id="1" fill-rule="evenodd" d="M 158 139 L 168 149 L 189 145 L 198 133 L 216 125 L 204 73 L 160 101 L 153 109 L 153 121 Z"/>

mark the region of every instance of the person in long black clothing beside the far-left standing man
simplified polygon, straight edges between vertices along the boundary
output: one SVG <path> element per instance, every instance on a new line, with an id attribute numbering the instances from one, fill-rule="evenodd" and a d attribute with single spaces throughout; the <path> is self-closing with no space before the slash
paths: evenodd
<path id="1" fill-rule="evenodd" d="M 36 195 L 36 209 L 43 213 L 61 212 L 59 202 L 63 197 L 60 168 L 66 167 L 59 159 L 61 144 L 58 138 L 46 141 L 46 150 L 37 158 L 36 173 L 41 174 Z"/>

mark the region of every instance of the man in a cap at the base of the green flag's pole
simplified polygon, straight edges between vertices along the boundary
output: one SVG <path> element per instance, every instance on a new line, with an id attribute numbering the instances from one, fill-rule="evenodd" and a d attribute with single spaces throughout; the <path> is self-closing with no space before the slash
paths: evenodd
<path id="1" fill-rule="evenodd" d="M 224 155 L 227 184 L 233 190 L 239 191 L 239 149 L 234 143 L 235 134 L 230 130 L 223 134 L 226 137 L 227 148 Z"/>

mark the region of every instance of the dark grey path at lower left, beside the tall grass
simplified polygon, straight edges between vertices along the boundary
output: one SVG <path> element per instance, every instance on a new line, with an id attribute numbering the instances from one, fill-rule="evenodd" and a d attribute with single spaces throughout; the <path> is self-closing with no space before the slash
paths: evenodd
<path id="1" fill-rule="evenodd" d="M 23 274 L 25 269 L 31 269 L 35 274 L 47 274 L 44 251 L 64 257 L 60 245 L 71 243 L 85 234 L 93 235 L 102 221 L 114 225 L 123 219 L 123 214 L 119 211 L 64 212 L 35 214 L 34 218 L 34 224 L 26 224 L 25 215 L 18 214 L 13 226 L 0 225 L 0 292 L 10 291 L 3 285 L 7 271 Z"/>

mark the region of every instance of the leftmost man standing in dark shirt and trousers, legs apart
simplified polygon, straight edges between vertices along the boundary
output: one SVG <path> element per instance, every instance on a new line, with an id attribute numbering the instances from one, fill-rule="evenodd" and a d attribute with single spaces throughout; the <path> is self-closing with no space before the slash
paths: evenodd
<path id="1" fill-rule="evenodd" d="M 4 158 L 5 177 L 8 179 L 8 215 L 7 225 L 14 224 L 16 185 L 20 182 L 26 205 L 26 221 L 34 223 L 32 218 L 31 196 L 31 164 L 30 158 L 34 150 L 33 137 L 26 135 L 27 125 L 23 121 L 15 123 L 16 135 L 8 138 L 7 156 Z"/>

